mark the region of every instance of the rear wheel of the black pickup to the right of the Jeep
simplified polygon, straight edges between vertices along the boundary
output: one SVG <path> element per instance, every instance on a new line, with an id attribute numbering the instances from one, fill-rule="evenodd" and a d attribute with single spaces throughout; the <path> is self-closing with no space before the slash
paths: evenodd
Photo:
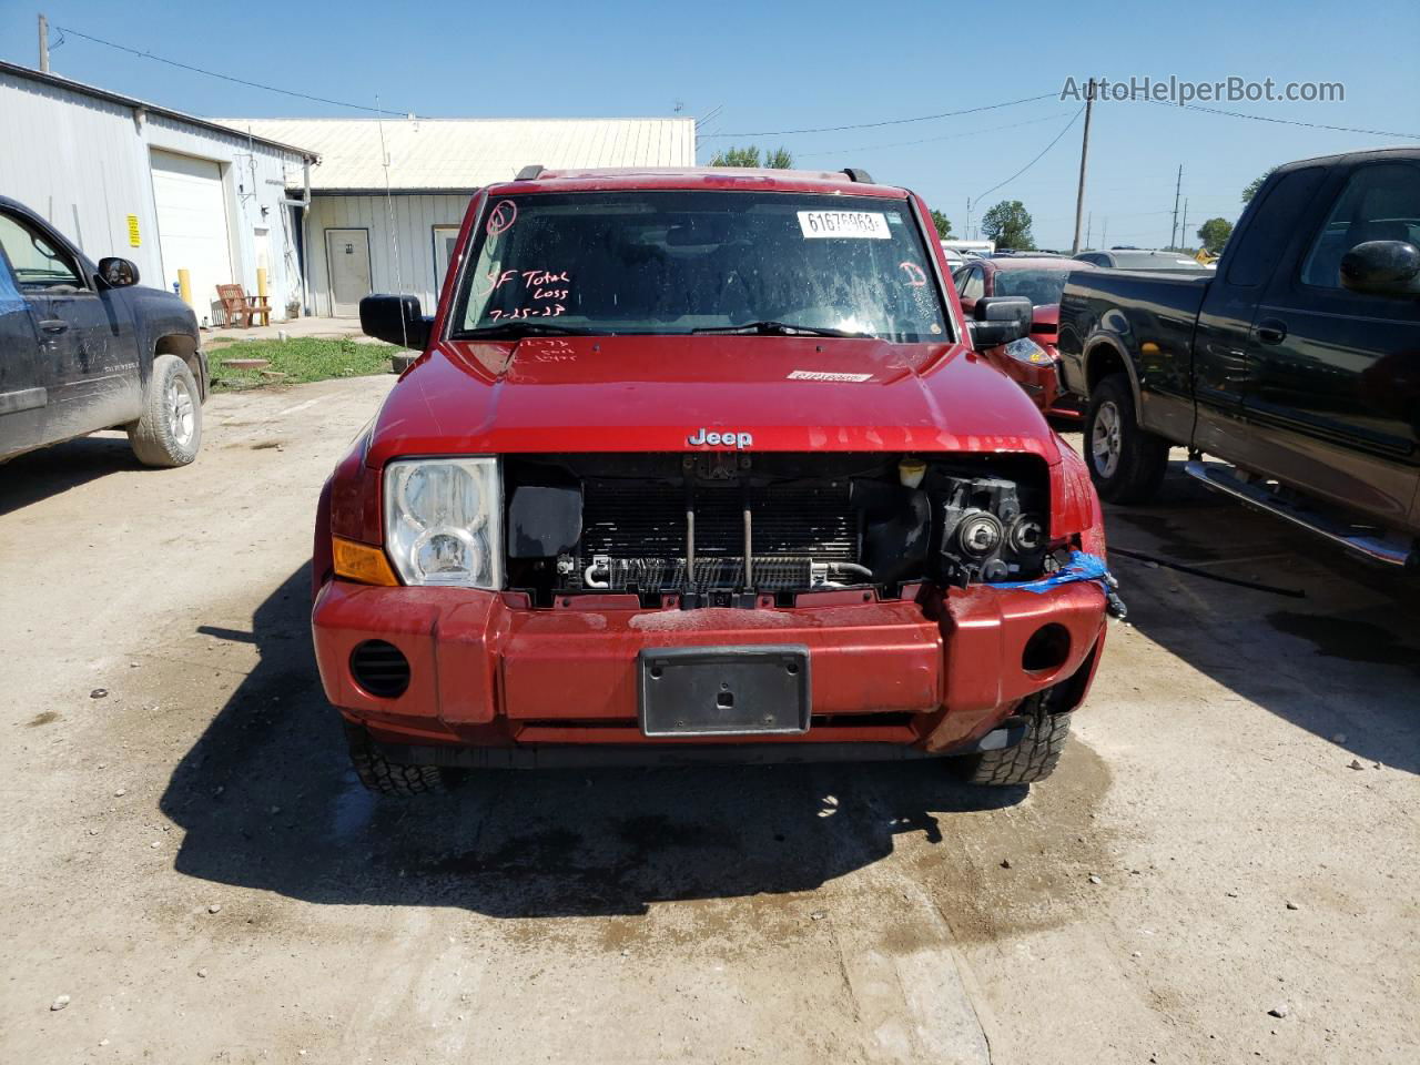
<path id="1" fill-rule="evenodd" d="M 1169 469 L 1169 442 L 1139 427 L 1129 378 L 1110 373 L 1089 390 L 1085 462 L 1106 503 L 1145 503 Z"/>

